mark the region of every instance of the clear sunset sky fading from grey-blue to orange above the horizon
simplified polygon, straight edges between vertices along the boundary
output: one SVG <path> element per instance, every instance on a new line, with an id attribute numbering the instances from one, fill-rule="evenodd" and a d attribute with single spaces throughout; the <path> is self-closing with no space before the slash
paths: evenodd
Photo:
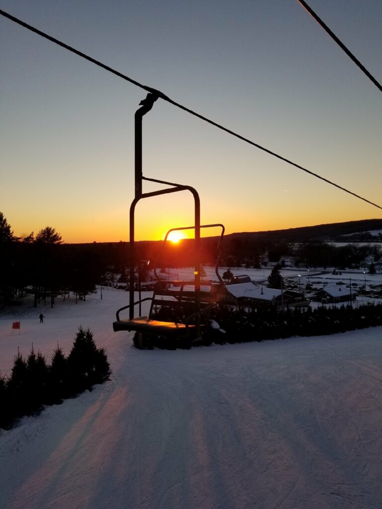
<path id="1" fill-rule="evenodd" d="M 308 3 L 382 82 L 380 0 Z M 0 8 L 382 205 L 382 94 L 297 0 Z M 128 240 L 145 91 L 2 16 L 0 38 L 0 211 L 16 235 L 50 225 L 66 242 Z M 202 222 L 227 233 L 382 215 L 160 99 L 143 137 L 143 174 L 194 186 Z M 144 200 L 137 239 L 192 222 L 186 193 Z"/>

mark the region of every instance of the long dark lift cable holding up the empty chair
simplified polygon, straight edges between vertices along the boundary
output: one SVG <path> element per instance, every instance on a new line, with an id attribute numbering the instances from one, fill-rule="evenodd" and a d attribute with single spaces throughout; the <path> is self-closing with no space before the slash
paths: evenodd
<path id="1" fill-rule="evenodd" d="M 281 159 L 282 161 L 287 162 L 288 164 L 291 164 L 292 166 L 295 166 L 298 169 L 301 169 L 303 172 L 306 172 L 309 175 L 312 175 L 313 177 L 316 177 L 317 179 L 323 180 L 324 182 L 326 182 L 328 184 L 331 184 L 332 186 L 335 186 L 338 189 L 341 189 L 342 191 L 345 191 L 348 194 L 351 194 L 351 195 L 355 196 L 356 198 L 359 198 L 360 200 L 363 200 L 364 202 L 366 202 L 366 203 L 368 203 L 370 205 L 373 205 L 374 207 L 377 207 L 378 209 L 382 210 L 381 206 L 371 202 L 370 200 L 367 200 L 366 198 L 360 196 L 359 194 L 356 194 L 356 193 L 354 193 L 352 191 L 349 191 L 345 187 L 342 187 L 342 186 L 340 186 L 338 184 L 335 184 L 331 180 L 325 179 L 324 177 L 321 177 L 320 175 L 318 175 L 318 174 L 316 174 L 314 172 L 311 172 L 309 169 L 304 168 L 303 166 L 300 166 L 299 164 L 297 164 L 297 163 L 295 163 L 295 162 L 293 162 L 293 161 L 291 161 L 289 159 L 286 159 L 285 157 L 277 154 L 276 152 L 272 152 L 271 150 L 266 149 L 265 147 L 262 147 L 261 145 L 253 142 L 252 140 L 250 140 L 248 138 L 245 138 L 244 136 L 241 136 L 240 134 L 237 134 L 234 131 L 231 131 L 230 129 L 227 129 L 226 127 L 224 127 L 224 126 L 222 126 L 220 124 L 217 124 L 216 122 L 213 122 L 212 120 L 208 119 L 207 117 L 204 117 L 203 115 L 200 115 L 199 113 L 193 111 L 192 109 L 189 109 L 186 106 L 183 106 L 182 104 L 179 104 L 179 103 L 173 101 L 172 99 L 170 99 L 168 96 L 166 96 L 165 94 L 163 94 L 159 90 L 155 90 L 155 89 L 153 89 L 151 87 L 143 85 L 139 81 L 135 81 L 134 79 L 126 76 L 125 74 L 122 74 L 121 72 L 116 71 L 115 69 L 113 69 L 113 68 L 111 68 L 111 67 L 109 67 L 109 66 L 107 66 L 105 64 L 102 64 L 102 62 L 99 62 L 98 60 L 93 59 L 91 56 L 83 53 L 82 51 L 78 51 L 77 49 L 72 48 L 68 44 L 65 44 L 64 42 L 61 42 L 58 39 L 55 39 L 54 37 L 51 37 L 50 35 L 45 34 L 44 32 L 41 32 L 41 30 L 36 29 L 34 26 L 32 26 L 32 25 L 30 25 L 28 23 L 25 23 L 24 21 L 21 21 L 18 18 L 15 18 L 11 14 L 8 14 L 7 12 L 5 12 L 5 11 L 3 11 L 1 9 L 0 9 L 0 14 L 2 16 L 4 16 L 4 17 L 10 19 L 11 21 L 14 21 L 15 23 L 23 26 L 24 28 L 34 32 L 35 34 L 38 34 L 41 37 L 44 37 L 45 39 L 48 39 L 49 41 L 54 42 L 55 44 L 58 44 L 59 46 L 62 46 L 63 48 L 67 49 L 68 51 L 71 51 L 72 53 L 75 53 L 76 55 L 81 56 L 82 58 L 88 60 L 89 62 L 92 62 L 93 64 L 95 64 L 95 65 L 97 65 L 99 67 L 102 67 L 106 71 L 109 71 L 109 72 L 115 74 L 116 76 L 119 76 L 120 78 L 129 81 L 130 83 L 134 84 L 135 86 L 140 87 L 141 89 L 144 89 L 144 90 L 146 90 L 149 93 L 155 94 L 158 98 L 160 97 L 164 101 L 167 101 L 170 104 L 173 104 L 174 106 L 177 106 L 178 108 L 183 109 L 184 111 L 187 111 L 189 114 L 194 115 L 195 117 L 198 117 L 201 120 L 204 120 L 205 122 L 208 122 L 209 124 L 219 128 L 219 129 L 222 129 L 223 131 L 228 132 L 229 134 L 232 134 L 232 136 L 235 136 L 236 138 L 241 139 L 243 142 L 249 143 L 250 145 L 253 145 L 254 147 L 257 147 L 258 149 L 263 150 L 264 152 L 266 152 L 266 153 L 268 153 L 268 154 L 270 154 L 270 155 L 272 155 L 274 157 L 277 157 L 278 159 Z"/>

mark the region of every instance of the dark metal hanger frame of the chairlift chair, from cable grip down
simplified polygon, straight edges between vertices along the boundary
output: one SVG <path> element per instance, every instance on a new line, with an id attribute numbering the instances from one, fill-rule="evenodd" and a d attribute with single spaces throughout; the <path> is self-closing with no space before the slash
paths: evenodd
<path id="1" fill-rule="evenodd" d="M 176 184 L 174 182 L 166 182 L 164 180 L 151 179 L 144 177 L 142 174 L 142 119 L 152 108 L 158 95 L 155 93 L 147 94 L 146 99 L 140 102 L 142 105 L 135 111 L 135 197 L 130 205 L 130 282 L 129 282 L 129 302 L 134 302 L 134 275 L 135 275 L 135 207 L 140 200 L 151 198 L 152 196 L 160 196 L 162 194 L 170 194 L 173 192 L 189 191 L 194 196 L 195 202 L 195 302 L 197 313 L 200 312 L 200 198 L 197 190 L 191 186 Z M 165 184 L 170 187 L 168 189 L 160 189 L 143 193 L 142 181 L 147 180 L 158 184 Z M 134 305 L 129 308 L 129 319 L 134 318 Z"/>

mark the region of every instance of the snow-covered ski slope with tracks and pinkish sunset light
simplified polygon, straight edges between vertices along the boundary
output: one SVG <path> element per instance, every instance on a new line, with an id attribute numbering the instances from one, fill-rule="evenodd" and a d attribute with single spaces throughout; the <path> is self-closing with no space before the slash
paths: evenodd
<path id="1" fill-rule="evenodd" d="M 113 370 L 0 432 L 2 509 L 382 507 L 382 328 L 139 351 L 112 330 L 127 297 L 103 288 L 0 317 L 3 372 L 17 346 L 68 353 L 79 325 Z"/>

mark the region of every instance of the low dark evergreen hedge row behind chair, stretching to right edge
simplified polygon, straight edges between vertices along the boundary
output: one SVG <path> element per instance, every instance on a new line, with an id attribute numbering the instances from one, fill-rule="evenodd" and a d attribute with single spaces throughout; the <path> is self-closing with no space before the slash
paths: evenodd
<path id="1" fill-rule="evenodd" d="M 170 308 L 162 306 L 156 319 L 173 320 L 184 317 L 172 316 Z M 190 310 L 188 310 L 190 314 Z M 292 336 L 319 336 L 335 334 L 348 330 L 364 329 L 382 325 L 382 304 L 366 304 L 357 307 L 351 305 L 318 306 L 311 308 L 290 307 L 251 308 L 248 306 L 217 305 L 205 317 L 205 323 L 214 320 L 220 325 L 217 328 L 207 327 L 206 332 L 193 341 L 192 337 L 155 337 L 153 335 L 138 334 L 134 337 L 137 348 L 190 348 L 192 346 L 209 346 L 212 343 L 223 345 L 226 343 L 247 343 L 253 341 L 276 340 Z M 222 332 L 222 330 L 224 332 Z"/>

